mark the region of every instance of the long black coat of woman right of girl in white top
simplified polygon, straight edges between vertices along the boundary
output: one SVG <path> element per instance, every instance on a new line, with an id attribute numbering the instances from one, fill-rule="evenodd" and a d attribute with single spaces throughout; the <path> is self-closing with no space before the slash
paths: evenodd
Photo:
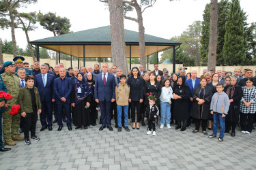
<path id="1" fill-rule="evenodd" d="M 176 85 L 173 88 L 173 93 L 176 95 L 182 97 L 182 99 L 175 99 L 173 102 L 174 109 L 173 109 L 173 116 L 174 119 L 177 121 L 184 121 L 188 118 L 188 97 L 190 95 L 190 89 L 189 87 L 184 84 L 182 86 Z"/>

